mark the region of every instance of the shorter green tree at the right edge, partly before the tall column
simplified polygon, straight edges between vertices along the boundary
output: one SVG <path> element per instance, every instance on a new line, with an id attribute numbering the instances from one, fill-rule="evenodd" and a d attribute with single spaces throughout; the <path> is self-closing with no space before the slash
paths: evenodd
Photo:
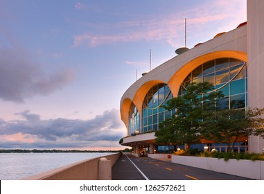
<path id="1" fill-rule="evenodd" d="M 238 139 L 250 135 L 264 138 L 264 109 L 248 108 L 222 109 L 214 112 L 211 118 L 202 123 L 201 133 L 204 139 L 227 143 L 228 152 L 234 150 Z"/>

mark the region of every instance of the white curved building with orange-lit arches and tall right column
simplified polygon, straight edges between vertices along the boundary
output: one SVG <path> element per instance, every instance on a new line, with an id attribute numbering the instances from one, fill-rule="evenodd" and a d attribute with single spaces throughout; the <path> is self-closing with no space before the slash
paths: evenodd
<path id="1" fill-rule="evenodd" d="M 246 109 L 264 107 L 264 1 L 247 1 L 247 22 L 228 33 L 197 44 L 146 73 L 134 82 L 121 98 L 121 119 L 127 127 L 122 145 L 150 154 L 172 152 L 175 145 L 157 145 L 155 131 L 159 123 L 170 117 L 161 107 L 166 100 L 184 94 L 190 82 L 212 82 L 225 94 L 223 108 Z M 225 143 L 204 142 L 225 152 Z M 177 145 L 179 147 L 180 145 Z M 240 139 L 237 152 L 261 152 L 264 140 L 258 136 Z"/>

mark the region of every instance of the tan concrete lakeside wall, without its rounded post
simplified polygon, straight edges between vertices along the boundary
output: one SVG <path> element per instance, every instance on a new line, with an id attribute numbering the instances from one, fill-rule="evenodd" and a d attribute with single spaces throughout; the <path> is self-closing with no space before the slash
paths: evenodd
<path id="1" fill-rule="evenodd" d="M 104 156 L 113 166 L 120 157 L 120 153 Z M 98 162 L 100 157 L 78 161 L 44 173 L 39 173 L 24 180 L 98 180 Z"/>

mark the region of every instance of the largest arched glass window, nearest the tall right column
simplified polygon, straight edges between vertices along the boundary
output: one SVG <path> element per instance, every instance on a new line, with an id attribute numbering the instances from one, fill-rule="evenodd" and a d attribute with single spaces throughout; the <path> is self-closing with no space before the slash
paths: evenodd
<path id="1" fill-rule="evenodd" d="M 247 108 L 247 64 L 243 61 L 220 58 L 201 64 L 182 82 L 179 96 L 191 82 L 211 82 L 215 90 L 222 91 L 220 109 Z"/>

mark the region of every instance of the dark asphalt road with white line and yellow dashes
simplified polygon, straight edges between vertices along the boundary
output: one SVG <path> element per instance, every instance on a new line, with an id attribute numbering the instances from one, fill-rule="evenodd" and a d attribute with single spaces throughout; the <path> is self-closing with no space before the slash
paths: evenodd
<path id="1" fill-rule="evenodd" d="M 244 177 L 216 173 L 160 161 L 148 157 L 121 156 L 112 167 L 113 180 L 248 180 Z"/>

